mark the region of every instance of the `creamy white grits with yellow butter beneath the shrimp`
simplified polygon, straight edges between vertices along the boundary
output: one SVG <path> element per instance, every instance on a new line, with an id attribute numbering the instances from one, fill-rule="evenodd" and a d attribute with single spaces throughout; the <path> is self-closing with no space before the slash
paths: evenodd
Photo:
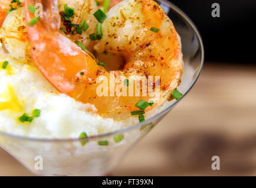
<path id="1" fill-rule="evenodd" d="M 8 61 L 8 69 L 0 68 L 0 131 L 12 135 L 39 138 L 77 138 L 81 132 L 88 136 L 112 132 L 138 122 L 137 117 L 122 121 L 97 115 L 93 105 L 77 102 L 59 93 L 33 65 L 17 59 L 1 57 L 0 62 Z M 2 63 L 1 63 L 2 65 Z M 17 102 L 10 99 L 11 87 Z M 6 109 L 3 109 L 6 108 Z M 31 116 L 34 109 L 40 109 L 40 117 L 31 123 L 20 122 L 24 113 Z"/>

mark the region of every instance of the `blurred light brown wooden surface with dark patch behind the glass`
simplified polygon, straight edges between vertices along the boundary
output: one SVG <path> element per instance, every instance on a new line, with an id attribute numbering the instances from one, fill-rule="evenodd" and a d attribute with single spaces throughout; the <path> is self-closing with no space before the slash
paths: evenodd
<path id="1" fill-rule="evenodd" d="M 211 169 L 219 156 L 221 170 Z M 31 176 L 0 149 L 0 176 Z M 206 63 L 191 92 L 111 176 L 256 176 L 256 66 Z"/>

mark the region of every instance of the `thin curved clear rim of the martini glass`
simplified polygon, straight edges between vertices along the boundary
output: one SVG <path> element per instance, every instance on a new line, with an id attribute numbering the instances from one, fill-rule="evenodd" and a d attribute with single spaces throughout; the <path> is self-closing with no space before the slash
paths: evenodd
<path id="1" fill-rule="evenodd" d="M 201 35 L 200 35 L 198 29 L 193 24 L 191 19 L 182 10 L 180 10 L 176 5 L 173 5 L 171 2 L 166 1 L 166 0 L 154 0 L 154 1 L 160 2 L 161 4 L 165 4 L 170 9 L 172 9 L 172 11 L 175 11 L 177 14 L 179 14 L 179 16 L 181 16 L 183 19 L 185 19 L 185 21 L 188 22 L 188 24 L 193 29 L 193 32 L 195 32 L 195 34 L 198 38 L 198 41 L 199 41 L 200 48 L 201 48 L 202 58 L 201 58 L 201 62 L 200 62 L 199 71 L 196 75 L 196 78 L 193 79 L 193 82 L 189 85 L 188 89 L 185 91 L 185 93 L 183 93 L 183 96 L 179 100 L 176 100 L 172 105 L 168 106 L 168 108 L 160 111 L 159 113 L 156 113 L 156 115 L 149 117 L 149 119 L 146 119 L 145 122 L 136 123 L 135 125 L 124 127 L 123 129 L 119 129 L 119 130 L 114 130 L 112 132 L 88 136 L 86 138 L 79 138 L 79 137 L 77 137 L 77 138 L 62 138 L 62 139 L 37 138 L 37 137 L 29 137 L 29 136 L 12 135 L 10 133 L 5 133 L 2 131 L 0 131 L 0 136 L 11 137 L 12 139 L 19 139 L 19 140 L 30 140 L 30 141 L 35 141 L 35 142 L 78 142 L 78 141 L 83 141 L 83 140 L 95 140 L 95 139 L 100 139 L 100 138 L 109 137 L 109 136 L 113 136 L 113 135 L 119 135 L 119 134 L 127 132 L 129 130 L 136 129 L 137 127 L 146 125 L 146 124 L 152 122 L 153 119 L 156 119 L 157 117 L 165 114 L 170 109 L 172 109 L 175 105 L 177 105 L 178 102 L 180 102 L 180 100 L 182 100 L 188 94 L 188 92 L 193 88 L 193 85 L 195 85 L 196 81 L 198 80 L 198 78 L 202 72 L 202 68 L 204 65 L 204 45 L 203 45 L 202 38 L 201 38 Z"/>

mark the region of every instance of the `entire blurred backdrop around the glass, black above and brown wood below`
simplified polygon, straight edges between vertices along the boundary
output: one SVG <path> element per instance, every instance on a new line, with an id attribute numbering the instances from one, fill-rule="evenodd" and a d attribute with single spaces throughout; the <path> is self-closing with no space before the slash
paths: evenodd
<path id="1" fill-rule="evenodd" d="M 171 2 L 202 35 L 202 75 L 110 176 L 256 176 L 256 1 Z M 215 2 L 220 18 L 211 16 Z M 212 170 L 212 156 L 220 170 Z M 2 149 L 0 159 L 0 176 L 32 175 Z"/>

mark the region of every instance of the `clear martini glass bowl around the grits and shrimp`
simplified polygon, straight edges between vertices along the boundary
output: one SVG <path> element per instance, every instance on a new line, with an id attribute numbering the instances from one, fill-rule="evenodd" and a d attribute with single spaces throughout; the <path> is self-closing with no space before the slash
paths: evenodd
<path id="1" fill-rule="evenodd" d="M 204 62 L 202 39 L 195 25 L 179 8 L 168 1 L 156 2 L 173 21 L 181 38 L 184 70 L 178 89 L 183 93 L 182 98 L 184 98 L 202 70 Z M 37 175 L 101 176 L 109 173 L 134 143 L 156 126 L 181 99 L 166 102 L 156 115 L 143 123 L 122 130 L 86 139 L 37 139 L 0 132 L 0 145 Z M 113 139 L 115 136 L 124 136 L 124 139 L 115 142 Z M 106 140 L 109 142 L 107 146 Z M 86 145 L 83 146 L 81 143 Z"/>

